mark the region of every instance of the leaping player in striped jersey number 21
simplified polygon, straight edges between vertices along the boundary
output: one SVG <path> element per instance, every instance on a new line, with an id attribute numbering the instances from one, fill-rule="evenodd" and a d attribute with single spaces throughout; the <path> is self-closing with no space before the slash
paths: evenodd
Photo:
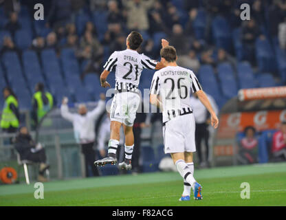
<path id="1" fill-rule="evenodd" d="M 123 125 L 125 135 L 125 159 L 118 164 L 120 168 L 131 170 L 131 157 L 134 146 L 133 122 L 136 111 L 140 105 L 138 84 L 143 69 L 162 69 L 161 62 L 153 61 L 144 54 L 139 54 L 137 49 L 143 42 L 139 32 L 131 32 L 126 39 L 127 49 L 115 51 L 104 65 L 104 71 L 100 75 L 102 87 L 110 87 L 107 76 L 115 67 L 115 95 L 111 103 L 110 119 L 111 133 L 108 145 L 108 155 L 94 162 L 95 166 L 116 164 L 115 157 L 120 140 L 120 127 Z M 162 47 L 168 46 L 168 41 L 162 39 Z"/>

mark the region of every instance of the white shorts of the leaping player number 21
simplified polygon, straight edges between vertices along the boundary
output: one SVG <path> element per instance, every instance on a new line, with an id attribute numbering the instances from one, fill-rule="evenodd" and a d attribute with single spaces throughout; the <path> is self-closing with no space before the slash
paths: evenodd
<path id="1" fill-rule="evenodd" d="M 110 108 L 110 120 L 133 126 L 140 102 L 140 96 L 130 91 L 115 94 Z"/>

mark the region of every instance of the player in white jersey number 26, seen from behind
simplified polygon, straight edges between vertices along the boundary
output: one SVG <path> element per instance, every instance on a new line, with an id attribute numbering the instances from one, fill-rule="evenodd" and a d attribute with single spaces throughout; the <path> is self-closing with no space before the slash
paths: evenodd
<path id="1" fill-rule="evenodd" d="M 196 151 L 196 146 L 195 118 L 190 106 L 190 92 L 197 94 L 208 109 L 211 124 L 215 129 L 219 125 L 219 120 L 195 74 L 190 69 L 177 65 L 175 48 L 164 47 L 160 55 L 161 62 L 166 67 L 155 72 L 153 76 L 150 102 L 162 110 L 164 151 L 170 153 L 179 174 L 184 179 L 184 192 L 179 200 L 190 200 L 191 188 L 195 199 L 203 199 L 202 187 L 193 177 L 192 152 Z"/>

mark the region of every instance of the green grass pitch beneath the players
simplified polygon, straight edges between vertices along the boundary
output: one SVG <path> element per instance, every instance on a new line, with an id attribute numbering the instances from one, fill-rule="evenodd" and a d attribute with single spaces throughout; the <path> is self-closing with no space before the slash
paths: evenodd
<path id="1" fill-rule="evenodd" d="M 178 201 L 179 173 L 145 173 L 50 181 L 44 199 L 34 184 L 0 186 L 0 206 L 286 206 L 286 163 L 195 170 L 203 200 Z M 250 199 L 241 199 L 241 183 Z"/>

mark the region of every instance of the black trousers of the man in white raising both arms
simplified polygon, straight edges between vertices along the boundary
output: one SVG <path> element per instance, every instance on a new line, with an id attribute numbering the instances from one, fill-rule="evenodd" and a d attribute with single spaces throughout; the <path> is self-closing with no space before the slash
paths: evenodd
<path id="1" fill-rule="evenodd" d="M 99 176 L 98 168 L 94 166 L 96 159 L 96 151 L 94 151 L 94 142 L 88 144 L 80 144 L 81 152 L 85 156 L 85 175 L 86 177 Z M 91 169 L 92 175 L 89 175 L 89 168 Z"/>

